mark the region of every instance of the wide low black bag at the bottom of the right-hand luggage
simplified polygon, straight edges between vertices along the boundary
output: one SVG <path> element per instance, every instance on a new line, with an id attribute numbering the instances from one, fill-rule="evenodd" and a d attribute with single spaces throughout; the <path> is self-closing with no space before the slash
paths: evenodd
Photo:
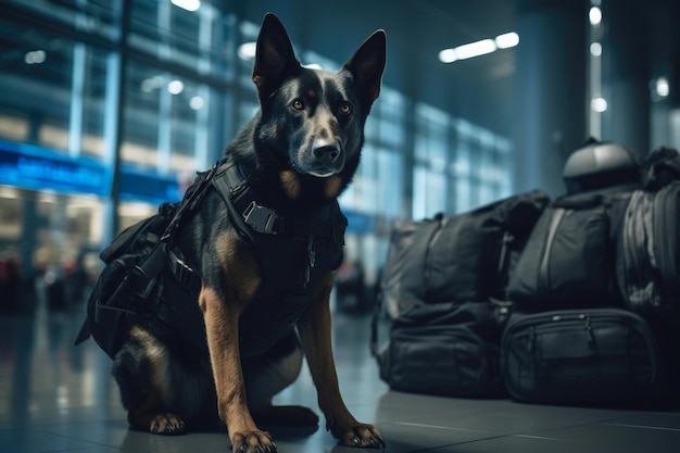
<path id="1" fill-rule="evenodd" d="M 518 401 L 646 401 L 660 386 L 652 330 L 625 310 L 514 313 L 501 348 L 505 385 Z"/>

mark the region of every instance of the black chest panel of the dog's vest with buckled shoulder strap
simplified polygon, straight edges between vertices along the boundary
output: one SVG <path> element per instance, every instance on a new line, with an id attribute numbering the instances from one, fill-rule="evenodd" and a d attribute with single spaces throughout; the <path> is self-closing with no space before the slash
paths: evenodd
<path id="1" fill-rule="evenodd" d="M 294 217 L 259 204 L 230 161 L 218 169 L 213 187 L 260 265 L 261 287 L 239 324 L 241 354 L 257 355 L 291 331 L 317 285 L 340 266 L 348 221 L 336 200 Z"/>

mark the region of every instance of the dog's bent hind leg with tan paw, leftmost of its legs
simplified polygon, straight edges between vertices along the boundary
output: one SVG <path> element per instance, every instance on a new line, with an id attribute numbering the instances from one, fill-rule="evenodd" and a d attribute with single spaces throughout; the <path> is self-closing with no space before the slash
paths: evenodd
<path id="1" fill-rule="evenodd" d="M 113 362 L 113 376 L 133 428 L 159 435 L 185 432 L 184 420 L 168 412 L 164 401 L 168 366 L 167 349 L 147 330 L 134 326 Z"/>

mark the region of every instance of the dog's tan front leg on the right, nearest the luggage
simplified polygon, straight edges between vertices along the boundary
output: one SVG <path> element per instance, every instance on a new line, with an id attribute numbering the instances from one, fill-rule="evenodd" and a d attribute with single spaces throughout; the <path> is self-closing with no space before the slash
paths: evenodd
<path id="1" fill-rule="evenodd" d="M 307 311 L 298 322 L 302 348 L 318 392 L 318 404 L 326 415 L 326 428 L 347 446 L 385 446 L 380 432 L 361 424 L 350 414 L 340 395 L 330 336 L 329 297 L 335 273 L 314 294 Z"/>

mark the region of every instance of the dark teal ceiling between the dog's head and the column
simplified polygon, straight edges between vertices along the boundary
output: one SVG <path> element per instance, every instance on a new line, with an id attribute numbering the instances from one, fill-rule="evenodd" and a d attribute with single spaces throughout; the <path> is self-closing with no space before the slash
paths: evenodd
<path id="1" fill-rule="evenodd" d="M 562 0 L 559 0 L 562 1 Z M 517 0 L 249 0 L 226 9 L 260 23 L 266 12 L 282 21 L 291 39 L 331 60 L 345 61 L 373 32 L 388 35 L 383 83 L 501 134 L 506 110 L 495 100 L 512 91 L 515 51 L 502 50 L 453 64 L 439 51 L 513 32 Z M 471 93 L 478 93 L 473 96 Z"/>

